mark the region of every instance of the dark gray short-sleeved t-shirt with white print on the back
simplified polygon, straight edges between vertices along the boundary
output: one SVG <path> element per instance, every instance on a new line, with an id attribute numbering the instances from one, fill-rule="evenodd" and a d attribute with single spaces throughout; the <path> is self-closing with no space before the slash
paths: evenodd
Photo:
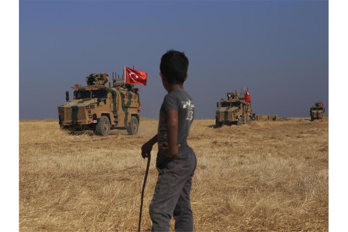
<path id="1" fill-rule="evenodd" d="M 182 144 L 187 140 L 195 116 L 194 107 L 192 98 L 184 89 L 174 89 L 164 97 L 159 111 L 158 146 L 161 146 L 162 142 L 167 142 L 166 113 L 168 110 L 178 112 L 177 144 Z"/>

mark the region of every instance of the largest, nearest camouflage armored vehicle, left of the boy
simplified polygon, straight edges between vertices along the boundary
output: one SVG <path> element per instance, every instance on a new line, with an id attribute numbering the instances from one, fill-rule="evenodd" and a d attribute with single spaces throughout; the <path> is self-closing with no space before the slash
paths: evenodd
<path id="1" fill-rule="evenodd" d="M 139 128 L 139 89 L 124 83 L 123 78 L 112 79 L 109 75 L 90 74 L 86 86 L 74 85 L 73 99 L 58 105 L 59 124 L 68 130 L 93 130 L 97 135 L 109 135 L 112 129 L 126 129 L 134 135 Z M 121 81 L 121 82 L 118 82 Z"/>

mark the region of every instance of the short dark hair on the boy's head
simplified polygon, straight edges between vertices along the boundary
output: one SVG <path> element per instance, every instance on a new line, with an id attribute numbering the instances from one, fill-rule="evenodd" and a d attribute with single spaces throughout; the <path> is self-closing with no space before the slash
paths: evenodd
<path id="1" fill-rule="evenodd" d="M 182 84 L 185 81 L 189 60 L 183 52 L 169 50 L 161 58 L 159 69 L 171 84 Z"/>

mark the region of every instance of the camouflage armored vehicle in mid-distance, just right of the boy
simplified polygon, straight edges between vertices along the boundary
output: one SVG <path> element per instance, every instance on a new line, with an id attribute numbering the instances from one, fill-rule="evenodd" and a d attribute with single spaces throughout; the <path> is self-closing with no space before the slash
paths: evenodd
<path id="1" fill-rule="evenodd" d="M 252 120 L 251 103 L 245 102 L 241 93 L 227 93 L 227 100 L 216 103 L 215 127 L 242 125 Z"/>

